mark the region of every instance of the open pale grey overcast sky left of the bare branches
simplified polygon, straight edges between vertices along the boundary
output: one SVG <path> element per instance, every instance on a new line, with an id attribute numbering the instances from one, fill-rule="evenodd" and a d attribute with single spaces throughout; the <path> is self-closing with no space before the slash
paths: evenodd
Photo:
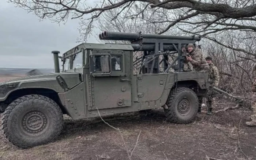
<path id="1" fill-rule="evenodd" d="M 78 45 L 78 20 L 65 25 L 39 21 L 32 13 L 0 1 L 0 68 L 54 68 L 51 51 Z M 98 43 L 90 37 L 88 43 Z"/>

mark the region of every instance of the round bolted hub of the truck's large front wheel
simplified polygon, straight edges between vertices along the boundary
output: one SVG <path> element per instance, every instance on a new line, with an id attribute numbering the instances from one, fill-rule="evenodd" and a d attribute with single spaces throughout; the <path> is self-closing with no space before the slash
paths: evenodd
<path id="1" fill-rule="evenodd" d="M 41 111 L 30 111 L 22 117 L 22 131 L 30 136 L 38 136 L 45 132 L 49 125 L 48 118 Z"/>

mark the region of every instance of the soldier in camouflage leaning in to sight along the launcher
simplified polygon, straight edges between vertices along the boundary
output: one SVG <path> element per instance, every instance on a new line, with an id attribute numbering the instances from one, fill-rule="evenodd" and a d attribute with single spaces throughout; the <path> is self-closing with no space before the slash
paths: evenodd
<path id="1" fill-rule="evenodd" d="M 183 47 L 182 52 L 187 52 Z M 200 48 L 195 47 L 193 44 L 188 44 L 188 56 L 184 63 L 190 62 L 195 71 L 208 71 L 209 65 L 204 59 L 203 53 Z"/>

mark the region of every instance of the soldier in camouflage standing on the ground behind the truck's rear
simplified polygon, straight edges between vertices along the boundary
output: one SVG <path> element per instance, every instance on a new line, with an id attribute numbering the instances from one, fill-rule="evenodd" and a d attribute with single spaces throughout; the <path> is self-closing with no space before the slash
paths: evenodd
<path id="1" fill-rule="evenodd" d="M 212 57 L 207 56 L 205 59 L 206 59 L 208 65 L 210 67 L 210 69 L 209 69 L 210 85 L 212 87 L 218 86 L 218 84 L 219 84 L 219 71 L 218 71 L 218 68 L 212 63 Z M 214 91 L 212 91 L 212 90 L 208 91 L 207 99 L 208 99 L 208 103 L 207 104 L 208 104 L 208 107 L 209 107 L 207 115 L 211 115 L 213 104 L 214 104 L 214 100 L 215 100 L 215 98 L 214 98 Z"/>

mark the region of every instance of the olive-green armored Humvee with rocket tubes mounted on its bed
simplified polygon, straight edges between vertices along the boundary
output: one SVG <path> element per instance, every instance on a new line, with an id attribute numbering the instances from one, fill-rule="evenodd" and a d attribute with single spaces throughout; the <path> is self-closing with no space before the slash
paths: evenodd
<path id="1" fill-rule="evenodd" d="M 63 56 L 52 51 L 54 73 L 0 84 L 1 126 L 12 144 L 29 148 L 55 140 L 63 114 L 76 120 L 163 107 L 170 122 L 195 119 L 208 73 L 185 72 L 181 48 L 200 37 L 105 31 L 99 38 L 130 43 L 82 43 Z"/>

